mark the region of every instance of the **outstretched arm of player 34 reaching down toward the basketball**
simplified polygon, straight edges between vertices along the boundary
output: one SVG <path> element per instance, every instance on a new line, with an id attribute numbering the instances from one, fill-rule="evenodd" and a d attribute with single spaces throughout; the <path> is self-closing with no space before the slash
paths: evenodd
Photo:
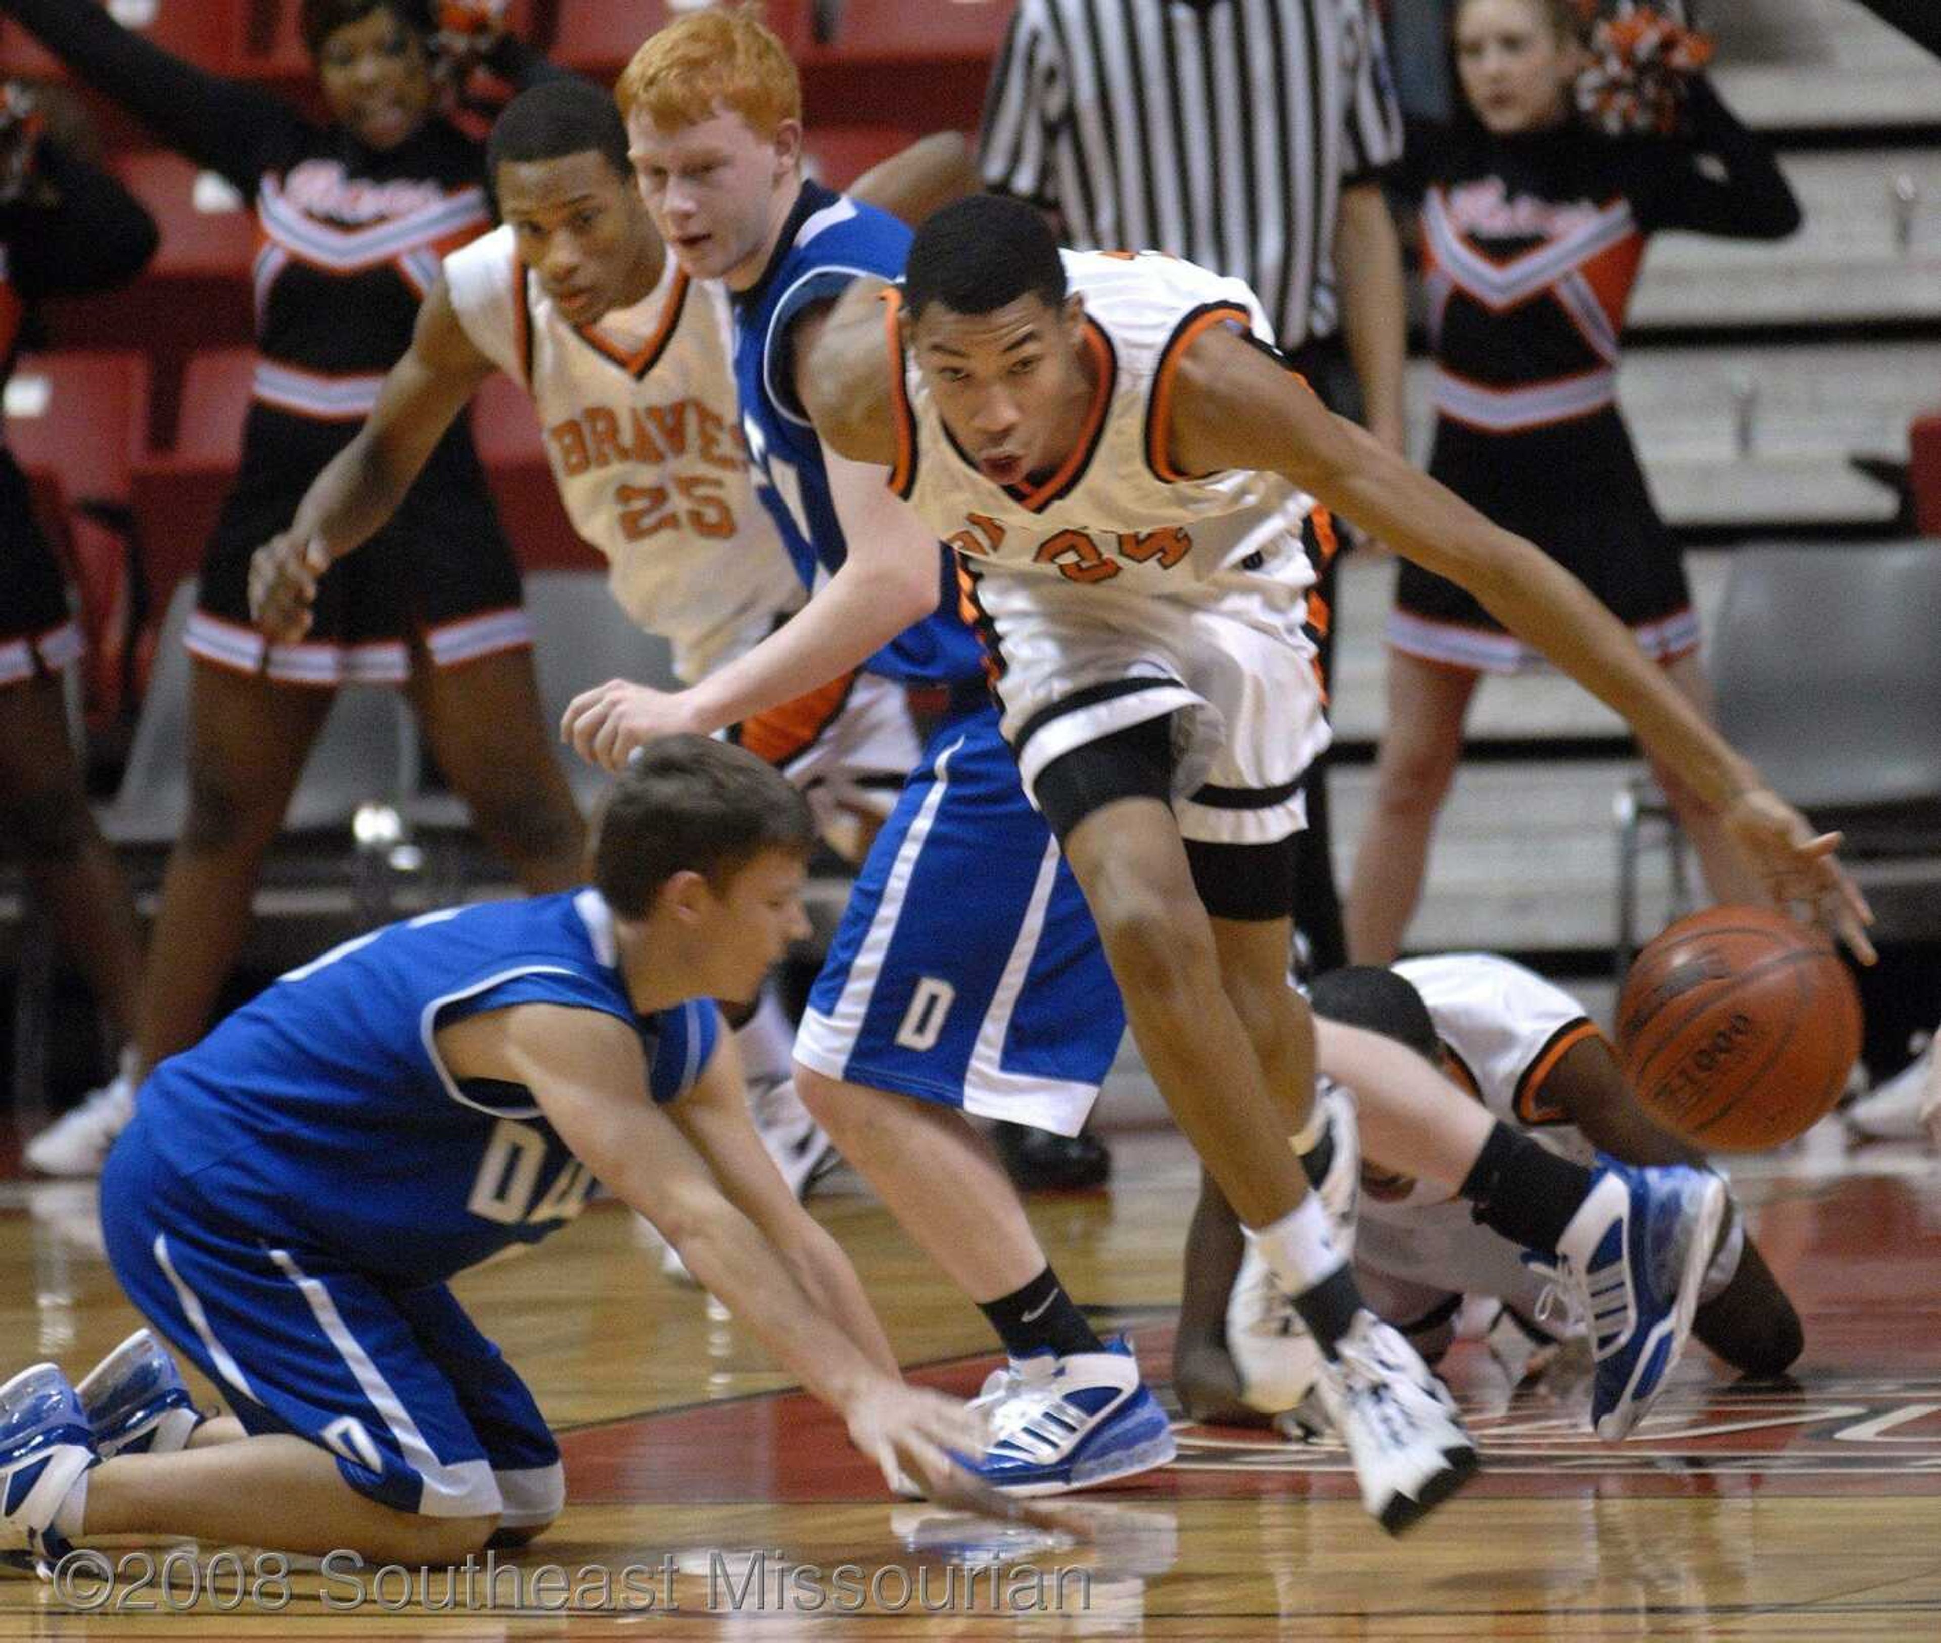
<path id="1" fill-rule="evenodd" d="M 1836 930 L 1871 961 L 1867 903 L 1832 858 L 1840 835 L 1815 835 L 1549 553 L 1330 416 L 1275 355 L 1227 328 L 1211 328 L 1188 348 L 1172 404 L 1168 458 L 1176 470 L 1283 474 L 1403 557 L 1467 588 L 1504 627 L 1621 713 L 1644 748 L 1720 812 L 1774 903 Z"/>

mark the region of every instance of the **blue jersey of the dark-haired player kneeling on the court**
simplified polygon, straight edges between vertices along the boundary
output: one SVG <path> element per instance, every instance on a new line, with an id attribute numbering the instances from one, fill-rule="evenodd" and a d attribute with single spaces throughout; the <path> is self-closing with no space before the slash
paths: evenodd
<path id="1" fill-rule="evenodd" d="M 386 924 L 289 971 L 140 1095 L 146 1144 L 266 1237 L 287 1229 L 363 1270 L 435 1282 L 573 1220 L 592 1192 L 518 1084 L 466 1080 L 439 1027 L 509 1004 L 627 1022 L 642 1099 L 672 1101 L 714 1053 L 714 1004 L 639 1016 L 594 889 Z"/>

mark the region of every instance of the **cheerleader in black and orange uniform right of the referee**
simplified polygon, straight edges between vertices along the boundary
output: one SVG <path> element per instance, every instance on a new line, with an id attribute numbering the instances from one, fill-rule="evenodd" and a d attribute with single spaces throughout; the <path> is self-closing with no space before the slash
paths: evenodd
<path id="1" fill-rule="evenodd" d="M 1619 334 L 1652 233 L 1780 239 L 1799 206 L 1696 74 L 1683 76 L 1675 136 L 1582 122 L 1570 0 L 1462 0 L 1454 37 L 1467 115 L 1411 155 L 1434 353 L 1429 472 L 1553 553 L 1710 711 L 1679 552 L 1617 410 Z M 1693 50 L 1675 29 L 1665 39 Z M 1467 592 L 1407 563 L 1388 645 L 1376 806 L 1347 905 L 1357 963 L 1401 946 L 1477 678 L 1539 660 Z M 1716 818 L 1660 781 L 1712 895 L 1757 901 Z"/>

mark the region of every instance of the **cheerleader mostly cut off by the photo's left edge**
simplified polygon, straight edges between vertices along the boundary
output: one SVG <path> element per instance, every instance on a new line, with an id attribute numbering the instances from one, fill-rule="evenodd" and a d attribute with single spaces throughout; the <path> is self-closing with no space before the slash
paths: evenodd
<path id="1" fill-rule="evenodd" d="M 0 385 L 43 297 L 128 284 L 155 223 L 113 177 L 45 132 L 31 91 L 0 85 Z M 122 1035 L 134 1033 L 142 936 L 68 742 L 62 668 L 82 654 L 68 588 L 0 443 L 0 853 L 27 874 L 54 934 Z"/>

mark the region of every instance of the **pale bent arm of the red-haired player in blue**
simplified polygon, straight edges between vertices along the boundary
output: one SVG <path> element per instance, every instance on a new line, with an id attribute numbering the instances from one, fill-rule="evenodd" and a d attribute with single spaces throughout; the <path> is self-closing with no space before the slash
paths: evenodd
<path id="1" fill-rule="evenodd" d="M 842 305 L 852 295 L 854 287 Z M 821 346 L 825 313 L 796 320 L 792 342 L 796 392 L 823 439 L 829 491 L 848 548 L 842 567 L 780 629 L 691 689 L 670 693 L 609 680 L 575 697 L 561 736 L 582 759 L 621 769 L 635 748 L 656 736 L 707 736 L 765 713 L 860 666 L 938 608 L 943 548 L 887 487 L 889 458 L 860 454 L 875 449 L 873 431 L 854 408 L 844 410 L 840 425 L 825 425 L 819 406 L 827 385 L 819 373 L 842 369 Z M 893 439 L 887 416 L 881 433 Z"/>

